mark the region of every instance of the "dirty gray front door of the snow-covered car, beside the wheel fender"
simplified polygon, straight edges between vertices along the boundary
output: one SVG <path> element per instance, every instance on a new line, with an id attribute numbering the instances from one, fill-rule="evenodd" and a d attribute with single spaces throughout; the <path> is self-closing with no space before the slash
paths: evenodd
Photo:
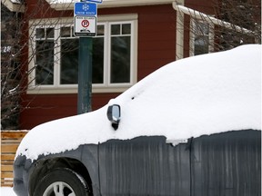
<path id="1" fill-rule="evenodd" d="M 100 191 L 109 195 L 179 195 L 190 192 L 187 144 L 141 136 L 99 144 Z"/>

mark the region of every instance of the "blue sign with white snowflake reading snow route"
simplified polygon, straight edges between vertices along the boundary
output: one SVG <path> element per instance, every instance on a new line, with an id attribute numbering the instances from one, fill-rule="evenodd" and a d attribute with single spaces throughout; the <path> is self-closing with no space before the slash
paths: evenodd
<path id="1" fill-rule="evenodd" d="M 86 2 L 76 2 L 75 15 L 96 16 L 97 5 Z"/>

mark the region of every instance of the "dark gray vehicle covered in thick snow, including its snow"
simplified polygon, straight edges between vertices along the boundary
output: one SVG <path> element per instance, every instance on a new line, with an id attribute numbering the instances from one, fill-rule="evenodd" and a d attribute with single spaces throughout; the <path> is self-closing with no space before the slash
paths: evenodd
<path id="1" fill-rule="evenodd" d="M 192 65 L 193 64 L 193 65 Z M 261 45 L 190 57 L 28 132 L 18 196 L 261 195 Z"/>

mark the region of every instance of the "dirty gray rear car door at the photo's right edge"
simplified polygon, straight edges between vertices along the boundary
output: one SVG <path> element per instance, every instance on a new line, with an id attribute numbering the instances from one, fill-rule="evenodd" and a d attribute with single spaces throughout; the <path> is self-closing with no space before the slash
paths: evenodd
<path id="1" fill-rule="evenodd" d="M 222 132 L 194 139 L 192 196 L 261 195 L 261 132 Z"/>

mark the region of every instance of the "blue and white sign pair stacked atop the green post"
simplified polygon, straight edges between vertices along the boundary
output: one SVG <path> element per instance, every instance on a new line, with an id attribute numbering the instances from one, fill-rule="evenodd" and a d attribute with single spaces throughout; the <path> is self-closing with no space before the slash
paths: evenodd
<path id="1" fill-rule="evenodd" d="M 97 3 L 100 3 L 100 1 L 97 1 Z M 74 7 L 74 34 L 84 37 L 96 36 L 96 17 L 96 4 L 76 2 Z"/>

